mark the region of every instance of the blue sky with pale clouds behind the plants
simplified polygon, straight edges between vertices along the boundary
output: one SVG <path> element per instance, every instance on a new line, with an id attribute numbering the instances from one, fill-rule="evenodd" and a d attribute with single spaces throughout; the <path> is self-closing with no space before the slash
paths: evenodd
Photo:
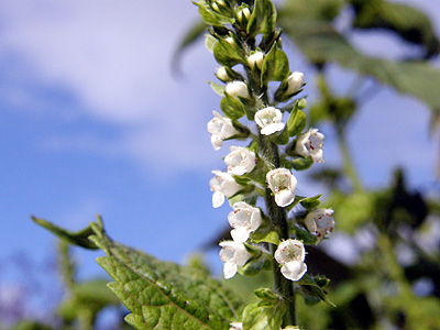
<path id="1" fill-rule="evenodd" d="M 439 2 L 406 2 L 429 10 L 440 35 Z M 224 228 L 230 209 L 212 209 L 209 179 L 224 169 L 228 145 L 215 152 L 206 131 L 219 110 L 206 84 L 217 65 L 198 43 L 183 57 L 182 79 L 170 69 L 197 19 L 182 0 L 0 1 L 0 260 L 53 253 L 54 238 L 30 215 L 78 230 L 100 213 L 113 239 L 176 262 Z M 377 56 L 409 48 L 389 36 L 353 42 Z M 290 69 L 311 80 L 307 62 L 289 53 Z M 353 81 L 337 67 L 331 77 L 340 91 Z M 413 186 L 436 189 L 429 119 L 421 102 L 387 88 L 360 109 L 350 144 L 367 186 L 405 164 Z M 338 164 L 323 131 L 326 161 Z M 320 193 L 301 176 L 298 188 Z M 101 274 L 98 255 L 77 252 L 85 276 Z M 13 283 L 10 273 L 0 283 Z"/>

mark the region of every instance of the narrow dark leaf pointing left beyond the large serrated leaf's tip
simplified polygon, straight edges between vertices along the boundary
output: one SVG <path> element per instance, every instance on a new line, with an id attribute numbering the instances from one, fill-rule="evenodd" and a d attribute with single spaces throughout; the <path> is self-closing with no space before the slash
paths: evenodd
<path id="1" fill-rule="evenodd" d="M 40 219 L 36 217 L 31 217 L 31 219 L 40 224 L 41 227 L 44 227 L 45 229 L 52 231 L 54 234 L 56 234 L 58 238 L 66 240 L 67 242 L 74 244 L 74 245 L 78 245 L 85 249 L 90 249 L 90 250 L 98 250 L 99 248 L 91 241 L 89 241 L 89 237 L 91 234 L 94 234 L 94 231 L 91 229 L 91 227 L 87 227 L 80 231 L 77 232 L 73 232 L 73 231 L 68 231 L 65 230 L 61 227 L 57 227 L 44 219 Z M 98 217 L 99 219 L 99 217 Z"/>

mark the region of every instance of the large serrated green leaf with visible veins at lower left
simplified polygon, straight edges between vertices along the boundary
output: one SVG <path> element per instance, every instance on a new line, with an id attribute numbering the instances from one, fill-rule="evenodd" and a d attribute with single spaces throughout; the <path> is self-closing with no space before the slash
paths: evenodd
<path id="1" fill-rule="evenodd" d="M 107 256 L 98 264 L 116 280 L 109 287 L 131 311 L 136 329 L 228 330 L 241 302 L 216 279 L 196 267 L 161 262 L 110 240 L 102 222 L 91 223 L 90 239 Z"/>

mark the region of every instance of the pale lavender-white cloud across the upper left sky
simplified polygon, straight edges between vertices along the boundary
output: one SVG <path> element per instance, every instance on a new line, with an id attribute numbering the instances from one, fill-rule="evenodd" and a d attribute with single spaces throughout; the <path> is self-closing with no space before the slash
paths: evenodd
<path id="1" fill-rule="evenodd" d="M 41 144 L 129 156 L 155 169 L 200 163 L 209 147 L 206 122 L 212 110 L 204 108 L 202 99 L 216 100 L 205 85 L 213 77 L 211 54 L 189 52 L 191 56 L 185 57 L 189 62 L 185 72 L 193 70 L 190 81 L 176 81 L 170 73 L 173 52 L 198 16 L 194 4 L 173 0 L 40 4 L 0 4 L 0 62 L 15 58 L 6 82 L 9 92 L 2 98 L 12 108 L 43 113 L 59 113 L 58 108 L 67 107 L 63 110 L 69 119 L 82 114 L 120 132 L 111 138 L 96 131 L 48 132 Z M 74 105 L 38 98 L 35 86 L 66 90 Z M 197 92 L 200 87 L 206 95 Z M 206 141 L 200 139 L 204 134 Z"/>

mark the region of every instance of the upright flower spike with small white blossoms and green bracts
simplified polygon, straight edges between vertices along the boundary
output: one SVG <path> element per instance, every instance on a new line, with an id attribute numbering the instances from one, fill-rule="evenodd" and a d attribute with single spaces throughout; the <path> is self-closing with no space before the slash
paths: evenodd
<path id="1" fill-rule="evenodd" d="M 224 156 L 227 169 L 212 170 L 210 180 L 212 206 L 228 200 L 232 208 L 231 239 L 220 243 L 223 276 L 272 268 L 288 285 L 300 284 L 307 273 L 305 245 L 320 243 L 334 228 L 333 210 L 318 208 L 320 195 L 297 194 L 294 170 L 324 163 L 324 136 L 307 128 L 306 100 L 296 98 L 305 76 L 289 69 L 271 1 L 199 0 L 197 6 L 216 26 L 206 44 L 220 65 L 215 74 L 220 84 L 211 86 L 222 97 L 222 114 L 213 111 L 208 122 L 211 144 L 219 151 L 224 141 L 240 140 Z"/>

